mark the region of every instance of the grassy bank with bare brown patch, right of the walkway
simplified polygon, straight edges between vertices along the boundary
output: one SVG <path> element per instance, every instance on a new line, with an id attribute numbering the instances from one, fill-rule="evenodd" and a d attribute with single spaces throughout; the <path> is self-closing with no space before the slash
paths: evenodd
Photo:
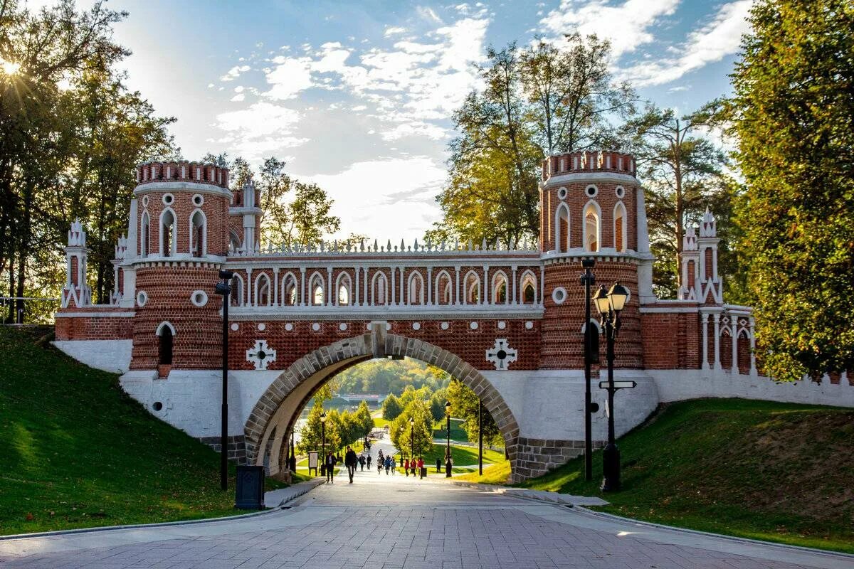
<path id="1" fill-rule="evenodd" d="M 618 446 L 622 491 L 600 492 L 599 451 L 591 482 L 579 458 L 522 486 L 602 496 L 602 510 L 639 520 L 854 553 L 852 409 L 686 401 Z"/>

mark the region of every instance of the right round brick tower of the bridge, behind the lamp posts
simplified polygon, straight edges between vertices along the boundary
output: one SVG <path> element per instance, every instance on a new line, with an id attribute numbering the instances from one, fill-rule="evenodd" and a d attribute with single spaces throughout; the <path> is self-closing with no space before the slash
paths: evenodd
<path id="1" fill-rule="evenodd" d="M 629 288 L 617 367 L 642 368 L 639 305 L 641 297 L 652 296 L 652 255 L 635 159 L 616 152 L 578 152 L 545 160 L 540 235 L 545 308 L 541 369 L 583 366 L 582 258 L 596 261 L 597 286 L 619 281 Z M 595 308 L 591 316 L 598 326 Z"/>

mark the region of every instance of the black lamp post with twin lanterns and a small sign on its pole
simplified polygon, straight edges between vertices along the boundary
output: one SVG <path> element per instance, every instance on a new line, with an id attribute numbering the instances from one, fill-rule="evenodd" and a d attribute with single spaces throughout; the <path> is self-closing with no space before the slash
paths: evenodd
<path id="1" fill-rule="evenodd" d="M 605 325 L 605 340 L 607 348 L 605 358 L 608 360 L 608 445 L 602 453 L 602 491 L 617 491 L 620 489 L 620 450 L 614 442 L 614 341 L 620 331 L 620 312 L 629 299 L 629 289 L 615 282 L 611 290 L 605 292 L 602 286 L 596 291 L 594 301 L 596 308 L 602 315 L 602 323 Z"/>

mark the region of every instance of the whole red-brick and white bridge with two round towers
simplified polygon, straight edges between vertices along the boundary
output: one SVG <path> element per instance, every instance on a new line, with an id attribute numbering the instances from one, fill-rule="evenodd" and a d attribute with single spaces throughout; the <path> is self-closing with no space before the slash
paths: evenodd
<path id="1" fill-rule="evenodd" d="M 126 392 L 164 421 L 217 441 L 222 300 L 213 285 L 220 269 L 234 271 L 229 451 L 272 474 L 285 467 L 290 431 L 313 392 L 373 357 L 413 357 L 474 389 L 505 438 L 512 479 L 579 454 L 585 258 L 595 260 L 597 282 L 619 281 L 631 292 L 617 377 L 638 387 L 617 393 L 618 434 L 661 401 L 777 397 L 768 395 L 775 384 L 757 374 L 752 310 L 723 302 L 711 212 L 699 235 L 693 227 L 685 235 L 679 299 L 652 293 L 644 194 L 630 155 L 545 160 L 540 240 L 510 248 L 484 241 L 261 248 L 259 191 L 249 183 L 232 192 L 228 181 L 227 170 L 210 164 L 137 166 L 108 305 L 91 304 L 85 230 L 74 224 L 56 345 L 121 373 Z M 854 390 L 825 391 L 806 399 L 839 401 Z M 594 389 L 594 399 L 601 443 L 605 397 Z"/>

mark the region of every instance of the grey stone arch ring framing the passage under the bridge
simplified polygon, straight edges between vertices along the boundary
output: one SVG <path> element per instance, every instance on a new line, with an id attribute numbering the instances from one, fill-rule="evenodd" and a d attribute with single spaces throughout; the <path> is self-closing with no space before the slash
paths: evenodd
<path id="1" fill-rule="evenodd" d="M 318 348 L 296 360 L 285 369 L 260 396 L 244 427 L 246 455 L 250 464 L 263 465 L 264 452 L 270 438 L 290 437 L 298 412 L 332 376 L 357 363 L 375 357 L 412 357 L 444 369 L 460 380 L 483 400 L 483 406 L 493 416 L 511 463 L 511 479 L 518 479 L 517 445 L 519 427 L 511 409 L 500 392 L 470 363 L 452 352 L 423 340 L 387 334 L 383 326 L 362 334 L 338 340 Z M 279 471 L 282 440 L 274 441 L 270 457 L 271 475 Z"/>

